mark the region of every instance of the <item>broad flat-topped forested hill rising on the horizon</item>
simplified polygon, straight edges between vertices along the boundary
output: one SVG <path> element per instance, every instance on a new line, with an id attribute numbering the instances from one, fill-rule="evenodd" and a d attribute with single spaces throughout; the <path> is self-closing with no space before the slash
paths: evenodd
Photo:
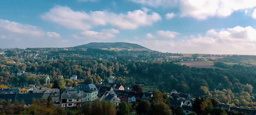
<path id="1" fill-rule="evenodd" d="M 140 46 L 135 43 L 125 43 L 125 42 L 115 42 L 115 43 L 88 43 L 80 46 L 75 46 L 73 48 L 90 48 L 90 49 L 109 49 L 109 50 L 122 50 L 122 49 L 128 49 L 128 50 L 150 50 L 148 48 L 145 48 L 143 46 Z"/>

